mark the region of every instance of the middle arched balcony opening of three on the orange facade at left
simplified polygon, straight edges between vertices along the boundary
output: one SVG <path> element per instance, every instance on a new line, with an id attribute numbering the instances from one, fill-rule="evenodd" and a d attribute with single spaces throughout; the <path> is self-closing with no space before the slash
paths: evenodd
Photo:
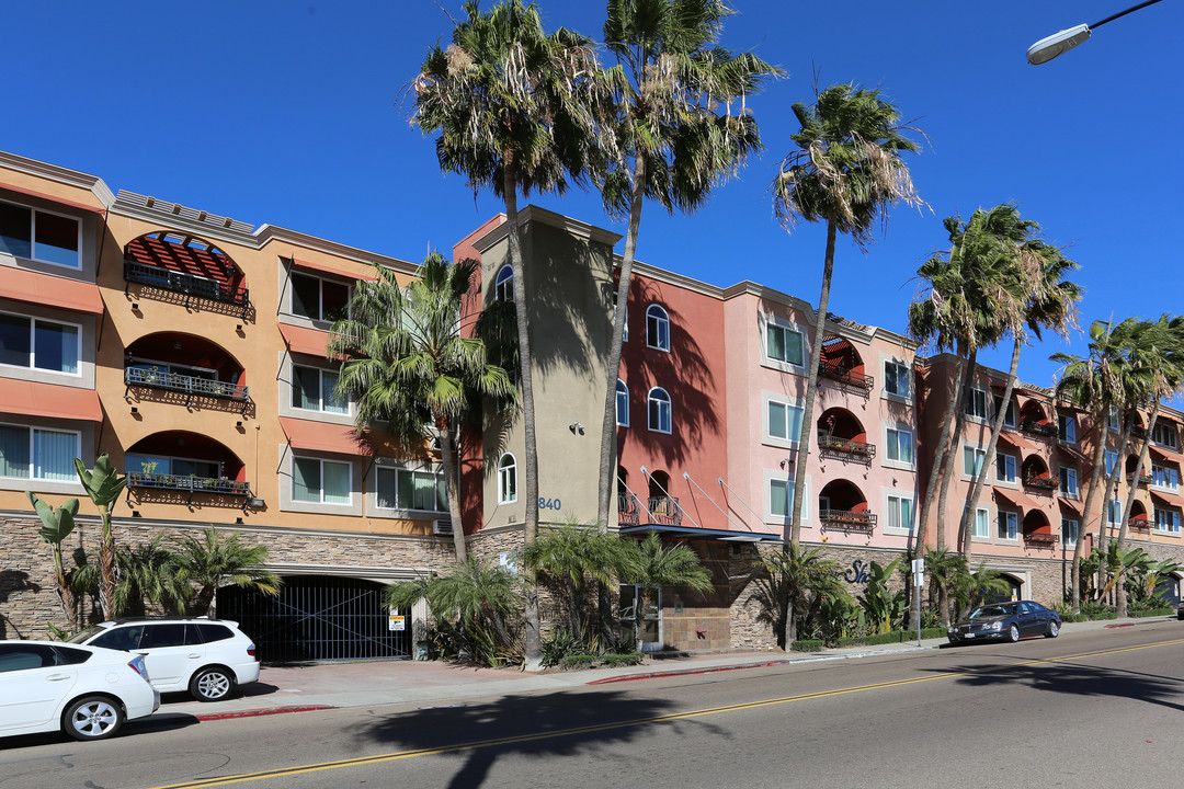
<path id="1" fill-rule="evenodd" d="M 251 393 L 246 371 L 224 348 L 205 337 L 160 331 L 128 345 L 123 358 L 124 397 L 200 405 L 245 414 Z"/>

